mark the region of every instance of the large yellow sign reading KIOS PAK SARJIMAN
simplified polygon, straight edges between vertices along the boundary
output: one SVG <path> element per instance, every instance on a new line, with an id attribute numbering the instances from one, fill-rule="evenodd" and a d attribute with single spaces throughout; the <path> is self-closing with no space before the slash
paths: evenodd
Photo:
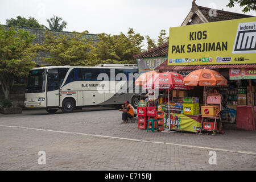
<path id="1" fill-rule="evenodd" d="M 170 28 L 168 65 L 255 64 L 256 17 Z"/>

